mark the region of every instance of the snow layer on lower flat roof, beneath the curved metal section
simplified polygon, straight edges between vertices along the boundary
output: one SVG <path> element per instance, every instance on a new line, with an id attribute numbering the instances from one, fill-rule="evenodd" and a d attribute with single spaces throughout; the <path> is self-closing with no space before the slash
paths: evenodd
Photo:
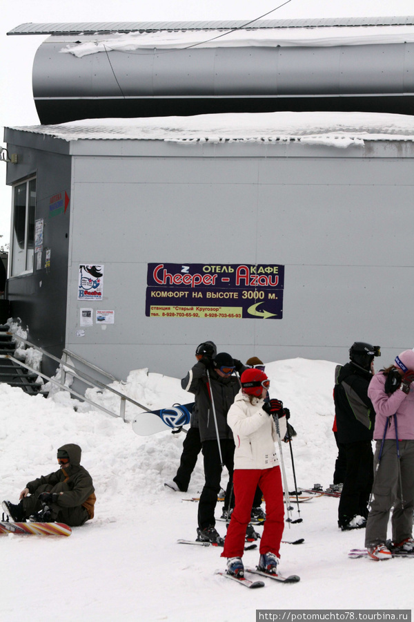
<path id="1" fill-rule="evenodd" d="M 86 119 L 11 129 L 62 140 L 301 142 L 344 148 L 365 140 L 414 141 L 414 117 L 358 112 L 226 113 L 193 117 Z"/>

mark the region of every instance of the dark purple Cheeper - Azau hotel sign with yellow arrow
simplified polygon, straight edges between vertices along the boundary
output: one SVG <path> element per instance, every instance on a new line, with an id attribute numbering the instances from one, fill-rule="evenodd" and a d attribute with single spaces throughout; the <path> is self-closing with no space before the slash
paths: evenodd
<path id="1" fill-rule="evenodd" d="M 284 265 L 149 263 L 147 317 L 282 319 Z"/>

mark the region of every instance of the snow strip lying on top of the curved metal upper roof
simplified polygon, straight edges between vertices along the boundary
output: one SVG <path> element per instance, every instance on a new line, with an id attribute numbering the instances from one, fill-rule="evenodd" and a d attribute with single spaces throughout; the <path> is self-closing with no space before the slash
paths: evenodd
<path id="1" fill-rule="evenodd" d="M 93 39 L 91 39 L 93 37 Z M 62 37 L 63 38 L 63 37 Z M 53 37 L 55 39 L 55 37 Z M 357 46 L 414 42 L 414 26 L 332 26 L 324 28 L 257 28 L 257 30 L 180 30 L 168 32 L 128 32 L 81 37 L 63 47 L 61 53 L 83 57 L 117 50 L 157 50 L 163 48 L 276 47 L 276 46 Z M 67 41 L 67 37 L 64 38 Z"/>

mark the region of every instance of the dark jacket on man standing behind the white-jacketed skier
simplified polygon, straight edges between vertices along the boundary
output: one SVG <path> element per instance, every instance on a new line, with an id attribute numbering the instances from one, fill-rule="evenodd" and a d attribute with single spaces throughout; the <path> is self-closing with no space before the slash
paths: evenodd
<path id="1" fill-rule="evenodd" d="M 246 368 L 240 370 L 242 374 Z M 217 440 L 217 432 L 213 416 L 213 397 L 219 438 L 233 439 L 233 433 L 227 424 L 227 413 L 235 401 L 240 390 L 239 379 L 235 376 L 221 378 L 215 370 L 209 369 L 210 384 L 206 373 L 206 366 L 198 361 L 186 377 L 181 380 L 181 387 L 185 391 L 194 393 L 197 406 L 197 419 L 201 442 L 205 440 Z"/>

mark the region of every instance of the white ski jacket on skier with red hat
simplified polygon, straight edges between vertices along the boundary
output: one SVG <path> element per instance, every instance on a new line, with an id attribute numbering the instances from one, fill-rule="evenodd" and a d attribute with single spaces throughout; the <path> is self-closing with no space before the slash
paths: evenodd
<path id="1" fill-rule="evenodd" d="M 273 417 L 264 412 L 264 399 L 237 393 L 227 423 L 235 440 L 235 469 L 271 469 L 279 464 L 275 453 L 277 432 Z M 286 417 L 279 419 L 281 438 L 286 434 Z"/>

